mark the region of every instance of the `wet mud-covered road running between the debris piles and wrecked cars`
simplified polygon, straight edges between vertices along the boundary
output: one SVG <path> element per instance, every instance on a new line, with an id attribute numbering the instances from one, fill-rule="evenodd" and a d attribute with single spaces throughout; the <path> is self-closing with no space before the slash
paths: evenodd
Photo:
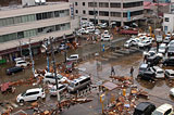
<path id="1" fill-rule="evenodd" d="M 123 46 L 123 42 L 125 41 L 125 38 L 122 38 L 123 41 L 120 39 L 114 40 L 114 46 Z M 98 52 L 102 43 L 97 44 L 85 44 L 83 48 L 79 48 L 77 50 L 71 50 L 69 51 L 69 55 L 72 53 L 78 53 L 80 56 L 90 55 L 92 53 Z M 107 42 L 105 46 L 110 46 L 110 42 Z M 63 53 L 55 54 L 57 61 L 63 61 L 64 56 Z M 46 66 L 46 58 L 45 56 L 36 56 L 36 68 L 44 68 Z M 97 63 L 100 64 L 100 69 L 97 69 Z M 112 52 L 104 52 L 102 55 L 99 55 L 99 58 L 95 56 L 87 56 L 86 61 L 83 61 L 77 67 L 78 68 L 86 68 L 85 72 L 82 72 L 82 74 L 90 74 L 92 77 L 94 84 L 98 80 L 110 80 L 109 76 L 111 74 L 111 66 L 114 66 L 115 73 L 117 76 L 129 76 L 130 67 L 134 67 L 134 78 L 135 84 L 138 86 L 138 88 L 141 88 L 149 93 L 149 100 L 139 99 L 136 103 L 139 103 L 141 101 L 150 101 L 153 102 L 157 106 L 163 104 L 163 103 L 170 103 L 174 105 L 173 98 L 169 97 L 169 90 L 171 87 L 167 80 L 158 80 L 156 82 L 148 82 L 144 80 L 137 80 L 136 76 L 138 74 L 139 65 L 142 63 L 142 54 L 141 52 L 135 52 L 129 54 L 123 54 L 122 56 L 115 56 Z M 12 64 L 10 64 L 12 65 Z M 3 69 L 5 67 L 1 66 Z M 2 69 L 1 69 L 2 72 Z M 18 73 L 14 76 L 5 76 L 4 72 L 1 74 L 1 82 L 5 81 L 13 81 L 22 78 L 27 78 L 32 74 L 30 68 L 26 69 L 23 73 Z M 0 94 L 0 102 L 3 100 L 15 100 L 15 97 L 25 91 L 28 88 L 32 87 L 38 87 L 38 86 L 18 86 L 16 87 L 16 92 L 11 94 Z M 94 101 L 85 104 L 77 104 L 74 106 L 71 106 L 69 110 L 65 110 L 62 115 L 95 115 L 101 113 L 101 104 L 99 102 L 99 98 L 97 95 L 97 91 L 94 90 L 91 94 L 88 95 L 89 98 L 94 99 Z M 46 103 L 54 103 L 57 101 L 57 98 L 50 98 L 50 95 L 47 95 Z"/>

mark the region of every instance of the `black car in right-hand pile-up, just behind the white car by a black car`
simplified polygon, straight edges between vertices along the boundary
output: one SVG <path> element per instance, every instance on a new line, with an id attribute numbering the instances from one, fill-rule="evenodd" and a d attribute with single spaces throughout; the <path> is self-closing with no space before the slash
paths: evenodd
<path id="1" fill-rule="evenodd" d="M 161 58 L 161 56 L 158 56 L 158 55 L 149 56 L 149 58 L 147 59 L 147 63 L 148 63 L 150 66 L 154 66 L 154 65 L 157 65 L 157 64 L 160 63 L 161 59 L 162 59 L 162 58 Z"/>

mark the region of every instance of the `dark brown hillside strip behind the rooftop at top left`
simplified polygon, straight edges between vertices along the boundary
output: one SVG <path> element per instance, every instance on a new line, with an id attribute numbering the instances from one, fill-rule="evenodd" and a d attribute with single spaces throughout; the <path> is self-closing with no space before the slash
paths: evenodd
<path id="1" fill-rule="evenodd" d="M 69 1 L 69 0 L 47 0 L 50 1 Z M 22 0 L 0 0 L 1 7 L 13 5 L 13 4 L 22 4 Z"/>

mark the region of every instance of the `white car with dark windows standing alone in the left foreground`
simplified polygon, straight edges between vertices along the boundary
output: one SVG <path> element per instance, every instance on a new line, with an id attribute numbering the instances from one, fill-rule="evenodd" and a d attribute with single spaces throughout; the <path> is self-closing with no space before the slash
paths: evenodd
<path id="1" fill-rule="evenodd" d="M 46 93 L 42 88 L 34 88 L 34 89 L 28 89 L 25 92 L 18 94 L 16 98 L 16 102 L 24 103 L 26 101 L 35 101 L 45 98 Z"/>

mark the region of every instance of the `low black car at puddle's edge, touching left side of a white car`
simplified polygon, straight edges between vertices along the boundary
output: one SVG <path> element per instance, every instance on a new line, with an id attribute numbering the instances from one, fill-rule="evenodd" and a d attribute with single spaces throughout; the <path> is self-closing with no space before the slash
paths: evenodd
<path id="1" fill-rule="evenodd" d="M 146 72 L 139 73 L 137 77 L 144 80 L 154 80 L 156 74 L 151 71 L 146 71 Z"/>

